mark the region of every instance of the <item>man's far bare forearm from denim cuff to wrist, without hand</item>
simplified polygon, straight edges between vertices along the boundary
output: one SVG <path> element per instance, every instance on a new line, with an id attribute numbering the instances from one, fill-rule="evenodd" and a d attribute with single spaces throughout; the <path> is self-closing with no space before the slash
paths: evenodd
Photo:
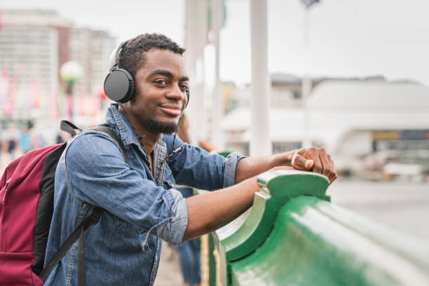
<path id="1" fill-rule="evenodd" d="M 247 157 L 237 163 L 236 184 L 278 166 L 290 166 L 294 151 L 271 156 Z"/>

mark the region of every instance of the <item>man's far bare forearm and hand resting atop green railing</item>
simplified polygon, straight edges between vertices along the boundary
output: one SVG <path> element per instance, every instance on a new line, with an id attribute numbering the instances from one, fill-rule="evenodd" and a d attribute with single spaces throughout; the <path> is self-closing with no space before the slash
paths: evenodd
<path id="1" fill-rule="evenodd" d="M 325 149 L 309 147 L 271 156 L 243 158 L 237 163 L 236 184 L 257 176 L 275 167 L 292 166 L 297 170 L 325 175 L 329 182 L 336 179 L 336 170 L 331 156 Z"/>

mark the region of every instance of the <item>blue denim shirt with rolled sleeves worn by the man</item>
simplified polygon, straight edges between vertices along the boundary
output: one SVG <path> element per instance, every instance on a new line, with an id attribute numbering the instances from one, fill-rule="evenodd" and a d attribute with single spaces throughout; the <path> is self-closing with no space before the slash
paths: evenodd
<path id="1" fill-rule="evenodd" d="M 186 199 L 175 183 L 215 190 L 235 181 L 240 155 L 209 154 L 161 135 L 153 152 L 154 175 L 147 154 L 117 104 L 107 111 L 107 125 L 121 140 L 86 130 L 69 139 L 55 173 L 53 219 L 45 266 L 94 206 L 104 208 L 100 220 L 84 233 L 87 285 L 153 285 L 161 239 L 179 245 L 187 226 Z M 167 157 L 167 154 L 172 156 Z M 74 243 L 45 285 L 77 285 Z"/>

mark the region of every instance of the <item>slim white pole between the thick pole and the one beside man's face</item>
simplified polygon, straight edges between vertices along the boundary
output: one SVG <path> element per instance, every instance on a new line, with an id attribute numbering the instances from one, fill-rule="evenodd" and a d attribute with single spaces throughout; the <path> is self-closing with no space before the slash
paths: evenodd
<path id="1" fill-rule="evenodd" d="M 212 0 L 212 36 L 215 50 L 214 56 L 214 87 L 213 87 L 213 117 L 212 117 L 212 142 L 219 151 L 224 147 L 224 132 L 222 130 L 222 119 L 224 117 L 224 97 L 222 83 L 220 81 L 220 29 L 222 25 L 222 0 Z"/>

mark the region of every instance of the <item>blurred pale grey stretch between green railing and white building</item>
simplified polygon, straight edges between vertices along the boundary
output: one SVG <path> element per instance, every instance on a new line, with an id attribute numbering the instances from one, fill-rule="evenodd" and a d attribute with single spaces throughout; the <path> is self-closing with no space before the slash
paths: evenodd
<path id="1" fill-rule="evenodd" d="M 417 182 L 334 182 L 332 203 L 409 236 L 429 240 L 429 184 Z"/>

